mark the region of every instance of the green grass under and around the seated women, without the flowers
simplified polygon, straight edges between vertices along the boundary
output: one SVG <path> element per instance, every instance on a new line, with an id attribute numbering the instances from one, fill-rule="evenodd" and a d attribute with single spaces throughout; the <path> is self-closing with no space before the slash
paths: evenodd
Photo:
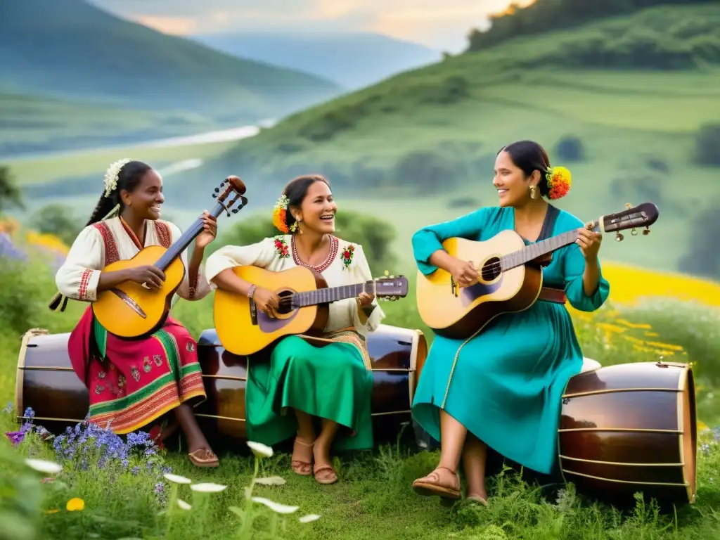
<path id="1" fill-rule="evenodd" d="M 53 292 L 52 275 L 42 264 L 27 267 L 1 266 L 3 282 L 12 282 L 12 289 L 0 291 L 0 403 L 14 396 L 15 366 L 20 336 L 31 327 L 48 328 L 51 333 L 70 330 L 83 306 L 73 302 L 64 314 L 50 313 L 45 308 Z M 387 323 L 406 328 L 423 328 L 414 308 L 413 290 L 404 302 L 384 304 Z M 21 301 L 22 300 L 22 301 Z M 183 321 L 194 336 L 212 325 L 212 298 L 201 302 L 180 302 L 174 316 Z M 21 306 L 22 309 L 18 309 Z M 685 354 L 676 361 L 694 361 L 698 382 L 698 418 L 711 426 L 720 424 L 720 402 L 714 390 L 720 383 L 720 363 L 716 351 L 720 346 L 720 312 L 702 307 L 670 303 L 644 305 L 636 310 L 613 313 L 611 306 L 603 307 L 592 320 L 575 320 L 578 338 L 585 356 L 598 359 L 603 365 L 634 361 L 654 361 L 657 354 L 638 351 L 631 341 L 621 339 L 606 343 L 598 323 L 650 323 L 660 336 L 653 338 L 683 346 Z M 642 338 L 646 330 L 634 330 Z M 13 416 L 0 414 L 0 429 L 17 429 Z M 532 485 L 521 482 L 514 474 L 505 472 L 490 480 L 491 507 L 475 508 L 460 503 L 452 509 L 443 508 L 436 500 L 419 498 L 410 484 L 426 474 L 436 464 L 436 452 L 411 454 L 405 446 L 382 446 L 372 453 L 338 456 L 340 482 L 320 486 L 312 478 L 300 478 L 289 472 L 289 456 L 277 454 L 261 462 L 259 476 L 278 475 L 287 480 L 279 486 L 256 485 L 253 495 L 278 503 L 297 505 L 297 513 L 278 518 L 276 526 L 284 538 L 314 538 L 324 536 L 341 539 L 519 539 L 519 540 L 575 540 L 575 539 L 714 539 L 720 527 L 720 439 L 713 432 L 701 434 L 698 441 L 698 501 L 696 505 L 678 508 L 677 513 L 660 514 L 649 505 L 639 505 L 634 513 L 621 514 L 606 505 L 593 503 L 575 495 L 569 487 L 563 495 L 545 499 Z M 0 441 L 0 454 L 9 444 Z M 56 459 L 49 442 L 30 436 L 12 456 L 31 456 Z M 88 454 L 92 455 L 92 454 Z M 89 457 L 92 460 L 94 458 Z M 111 462 L 99 469 L 78 470 L 75 462 L 63 462 L 64 472 L 50 483 L 40 485 L 27 480 L 22 462 L 5 462 L 0 455 L 0 487 L 4 487 L 4 502 L 0 513 L 8 516 L 8 523 L 19 526 L 21 514 L 27 523 L 35 523 L 42 538 L 74 539 L 197 539 L 217 538 L 273 538 L 262 536 L 274 523 L 273 513 L 261 505 L 248 505 L 243 498 L 245 488 L 253 477 L 252 460 L 246 449 L 231 449 L 222 455 L 222 465 L 215 470 L 194 469 L 182 452 L 166 451 L 157 467 L 147 469 L 145 459 L 132 458 L 127 468 Z M 140 467 L 133 474 L 132 467 Z M 200 496 L 186 485 L 180 486 L 177 496 L 193 505 L 188 512 L 176 510 L 168 526 L 168 515 L 162 513 L 168 497 L 172 497 L 171 483 L 158 476 L 160 467 L 189 477 L 194 482 L 215 482 L 227 488 L 220 493 Z M 25 473 L 23 473 L 25 471 Z M 32 477 L 32 474 L 30 475 Z M 47 474 L 37 474 L 39 479 Z M 14 487 L 7 487 L 13 485 Z M 30 482 L 22 484 L 20 482 Z M 163 494 L 155 495 L 157 483 L 163 482 Z M 25 487 L 22 487 L 25 486 Z M 32 489 L 31 489 L 32 488 Z M 37 499 L 32 497 L 36 496 Z M 83 511 L 64 510 L 71 498 L 85 501 Z M 235 510 L 231 510 L 230 508 Z M 11 510 L 9 510 L 11 508 Z M 171 506 L 174 508 L 174 506 Z M 55 510 L 57 513 L 42 513 Z M 240 536 L 243 524 L 240 516 L 253 516 L 254 536 Z M 309 524 L 299 523 L 299 516 L 316 513 L 321 517 Z M 25 522 L 22 522 L 25 523 Z M 8 528 L 7 531 L 14 531 Z M 8 532 L 8 534 L 10 534 Z M 4 538 L 0 534 L 0 538 Z M 13 540 L 23 540 L 21 536 Z M 28 536 L 27 538 L 31 538 Z"/>

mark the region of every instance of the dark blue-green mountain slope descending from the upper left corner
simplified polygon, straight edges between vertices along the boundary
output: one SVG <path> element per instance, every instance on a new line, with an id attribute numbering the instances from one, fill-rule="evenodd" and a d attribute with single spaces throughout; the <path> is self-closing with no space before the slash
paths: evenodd
<path id="1" fill-rule="evenodd" d="M 279 117 L 341 92 L 318 76 L 164 35 L 84 0 L 0 1 L 0 85 L 225 122 Z"/>

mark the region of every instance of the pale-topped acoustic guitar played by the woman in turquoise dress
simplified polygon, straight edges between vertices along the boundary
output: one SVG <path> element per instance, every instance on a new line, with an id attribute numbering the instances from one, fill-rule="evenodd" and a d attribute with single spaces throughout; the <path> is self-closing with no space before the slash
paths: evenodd
<path id="1" fill-rule="evenodd" d="M 657 206 L 645 202 L 616 214 L 601 216 L 588 222 L 585 228 L 597 233 L 616 233 L 621 230 L 645 227 L 657 221 Z M 459 287 L 449 272 L 437 269 L 425 276 L 418 271 L 418 311 L 420 318 L 438 336 L 466 339 L 482 331 L 491 320 L 503 313 L 521 312 L 531 307 L 542 289 L 542 267 L 552 259 L 552 252 L 577 240 L 577 230 L 570 230 L 546 240 L 526 246 L 514 230 L 477 242 L 464 238 L 448 238 L 443 248 L 451 256 L 478 264 L 480 276 L 474 284 Z"/>

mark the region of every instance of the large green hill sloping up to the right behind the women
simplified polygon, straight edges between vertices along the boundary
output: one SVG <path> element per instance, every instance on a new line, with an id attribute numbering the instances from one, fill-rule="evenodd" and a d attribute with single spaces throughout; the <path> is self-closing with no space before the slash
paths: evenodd
<path id="1" fill-rule="evenodd" d="M 205 171 L 240 174 L 253 206 L 296 174 L 322 172 L 341 204 L 392 216 L 408 256 L 421 225 L 496 204 L 495 153 L 533 138 L 573 171 L 559 206 L 582 219 L 660 206 L 656 233 L 631 248 L 608 242 L 606 256 L 675 269 L 690 220 L 720 197 L 718 169 L 696 152 L 701 126 L 720 122 L 719 29 L 720 6 L 703 3 L 518 37 L 294 114 Z M 639 58 L 647 68 L 630 68 Z M 659 69 L 661 58 L 693 63 Z M 179 179 L 173 189 L 192 204 L 191 181 Z"/>

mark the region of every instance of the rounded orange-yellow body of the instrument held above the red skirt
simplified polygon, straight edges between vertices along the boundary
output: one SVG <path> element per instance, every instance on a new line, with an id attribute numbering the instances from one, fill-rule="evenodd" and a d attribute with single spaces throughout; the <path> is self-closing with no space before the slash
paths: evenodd
<path id="1" fill-rule="evenodd" d="M 163 246 L 148 246 L 126 261 L 108 264 L 102 271 L 113 272 L 154 265 L 165 252 L 166 248 Z M 173 294 L 184 277 L 185 265 L 181 258 L 175 258 L 165 269 L 165 282 L 160 289 L 149 290 L 139 283 L 123 282 L 114 289 L 97 295 L 97 300 L 92 304 L 93 314 L 108 332 L 120 338 L 150 336 L 161 328 L 168 318 Z M 138 310 L 145 316 L 140 315 Z"/>

